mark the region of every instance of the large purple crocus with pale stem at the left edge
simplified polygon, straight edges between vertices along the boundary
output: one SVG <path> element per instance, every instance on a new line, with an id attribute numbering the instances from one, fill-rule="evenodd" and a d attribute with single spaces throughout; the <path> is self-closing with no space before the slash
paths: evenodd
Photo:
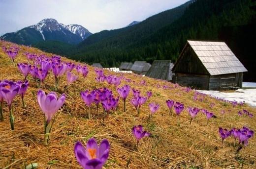
<path id="1" fill-rule="evenodd" d="M 1 83 L 1 87 L 0 87 L 1 94 L 0 95 L 8 104 L 9 113 L 10 113 L 11 130 L 14 130 L 14 116 L 13 116 L 13 110 L 11 107 L 11 103 L 12 103 L 14 97 L 17 96 L 19 90 L 20 90 L 20 86 L 16 82 L 4 80 Z"/>

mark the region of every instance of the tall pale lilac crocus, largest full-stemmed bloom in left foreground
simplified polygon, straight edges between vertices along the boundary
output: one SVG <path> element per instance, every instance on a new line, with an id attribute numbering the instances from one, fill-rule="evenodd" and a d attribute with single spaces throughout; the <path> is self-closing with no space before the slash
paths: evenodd
<path id="1" fill-rule="evenodd" d="M 65 102 L 65 94 L 62 94 L 59 99 L 57 97 L 57 94 L 55 92 L 50 92 L 48 95 L 45 94 L 44 91 L 39 90 L 37 92 L 37 101 L 39 104 L 39 107 L 41 108 L 42 112 L 44 113 L 44 116 L 46 120 L 44 121 L 44 144 L 49 144 L 49 137 L 50 132 L 52 128 L 53 121 L 52 118 L 55 115 L 55 113 L 63 106 Z"/>

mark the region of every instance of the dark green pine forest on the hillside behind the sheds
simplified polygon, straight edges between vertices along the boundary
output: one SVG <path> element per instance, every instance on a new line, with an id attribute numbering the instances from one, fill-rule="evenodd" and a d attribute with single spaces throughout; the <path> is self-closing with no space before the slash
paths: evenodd
<path id="1" fill-rule="evenodd" d="M 251 71 L 256 64 L 255 9 L 255 0 L 191 0 L 140 24 L 93 34 L 75 47 L 56 46 L 56 42 L 39 43 L 36 47 L 113 67 L 122 61 L 175 62 L 187 39 L 224 41 L 249 70 L 244 79 L 256 81 Z M 49 48 L 51 43 L 54 48 Z"/>

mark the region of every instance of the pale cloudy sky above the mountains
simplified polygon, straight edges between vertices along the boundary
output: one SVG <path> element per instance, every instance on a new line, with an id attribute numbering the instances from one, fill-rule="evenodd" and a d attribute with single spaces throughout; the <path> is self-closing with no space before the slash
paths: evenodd
<path id="1" fill-rule="evenodd" d="M 0 0 L 0 35 L 45 18 L 80 24 L 90 32 L 125 27 L 188 0 Z"/>

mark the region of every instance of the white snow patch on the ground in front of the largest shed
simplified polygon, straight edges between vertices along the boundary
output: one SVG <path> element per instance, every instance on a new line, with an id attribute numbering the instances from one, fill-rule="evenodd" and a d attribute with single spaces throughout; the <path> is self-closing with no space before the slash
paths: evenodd
<path id="1" fill-rule="evenodd" d="M 212 97 L 218 97 L 229 101 L 243 102 L 256 107 L 256 89 L 238 89 L 232 93 L 219 91 L 197 90 L 199 93 L 204 93 Z"/>

